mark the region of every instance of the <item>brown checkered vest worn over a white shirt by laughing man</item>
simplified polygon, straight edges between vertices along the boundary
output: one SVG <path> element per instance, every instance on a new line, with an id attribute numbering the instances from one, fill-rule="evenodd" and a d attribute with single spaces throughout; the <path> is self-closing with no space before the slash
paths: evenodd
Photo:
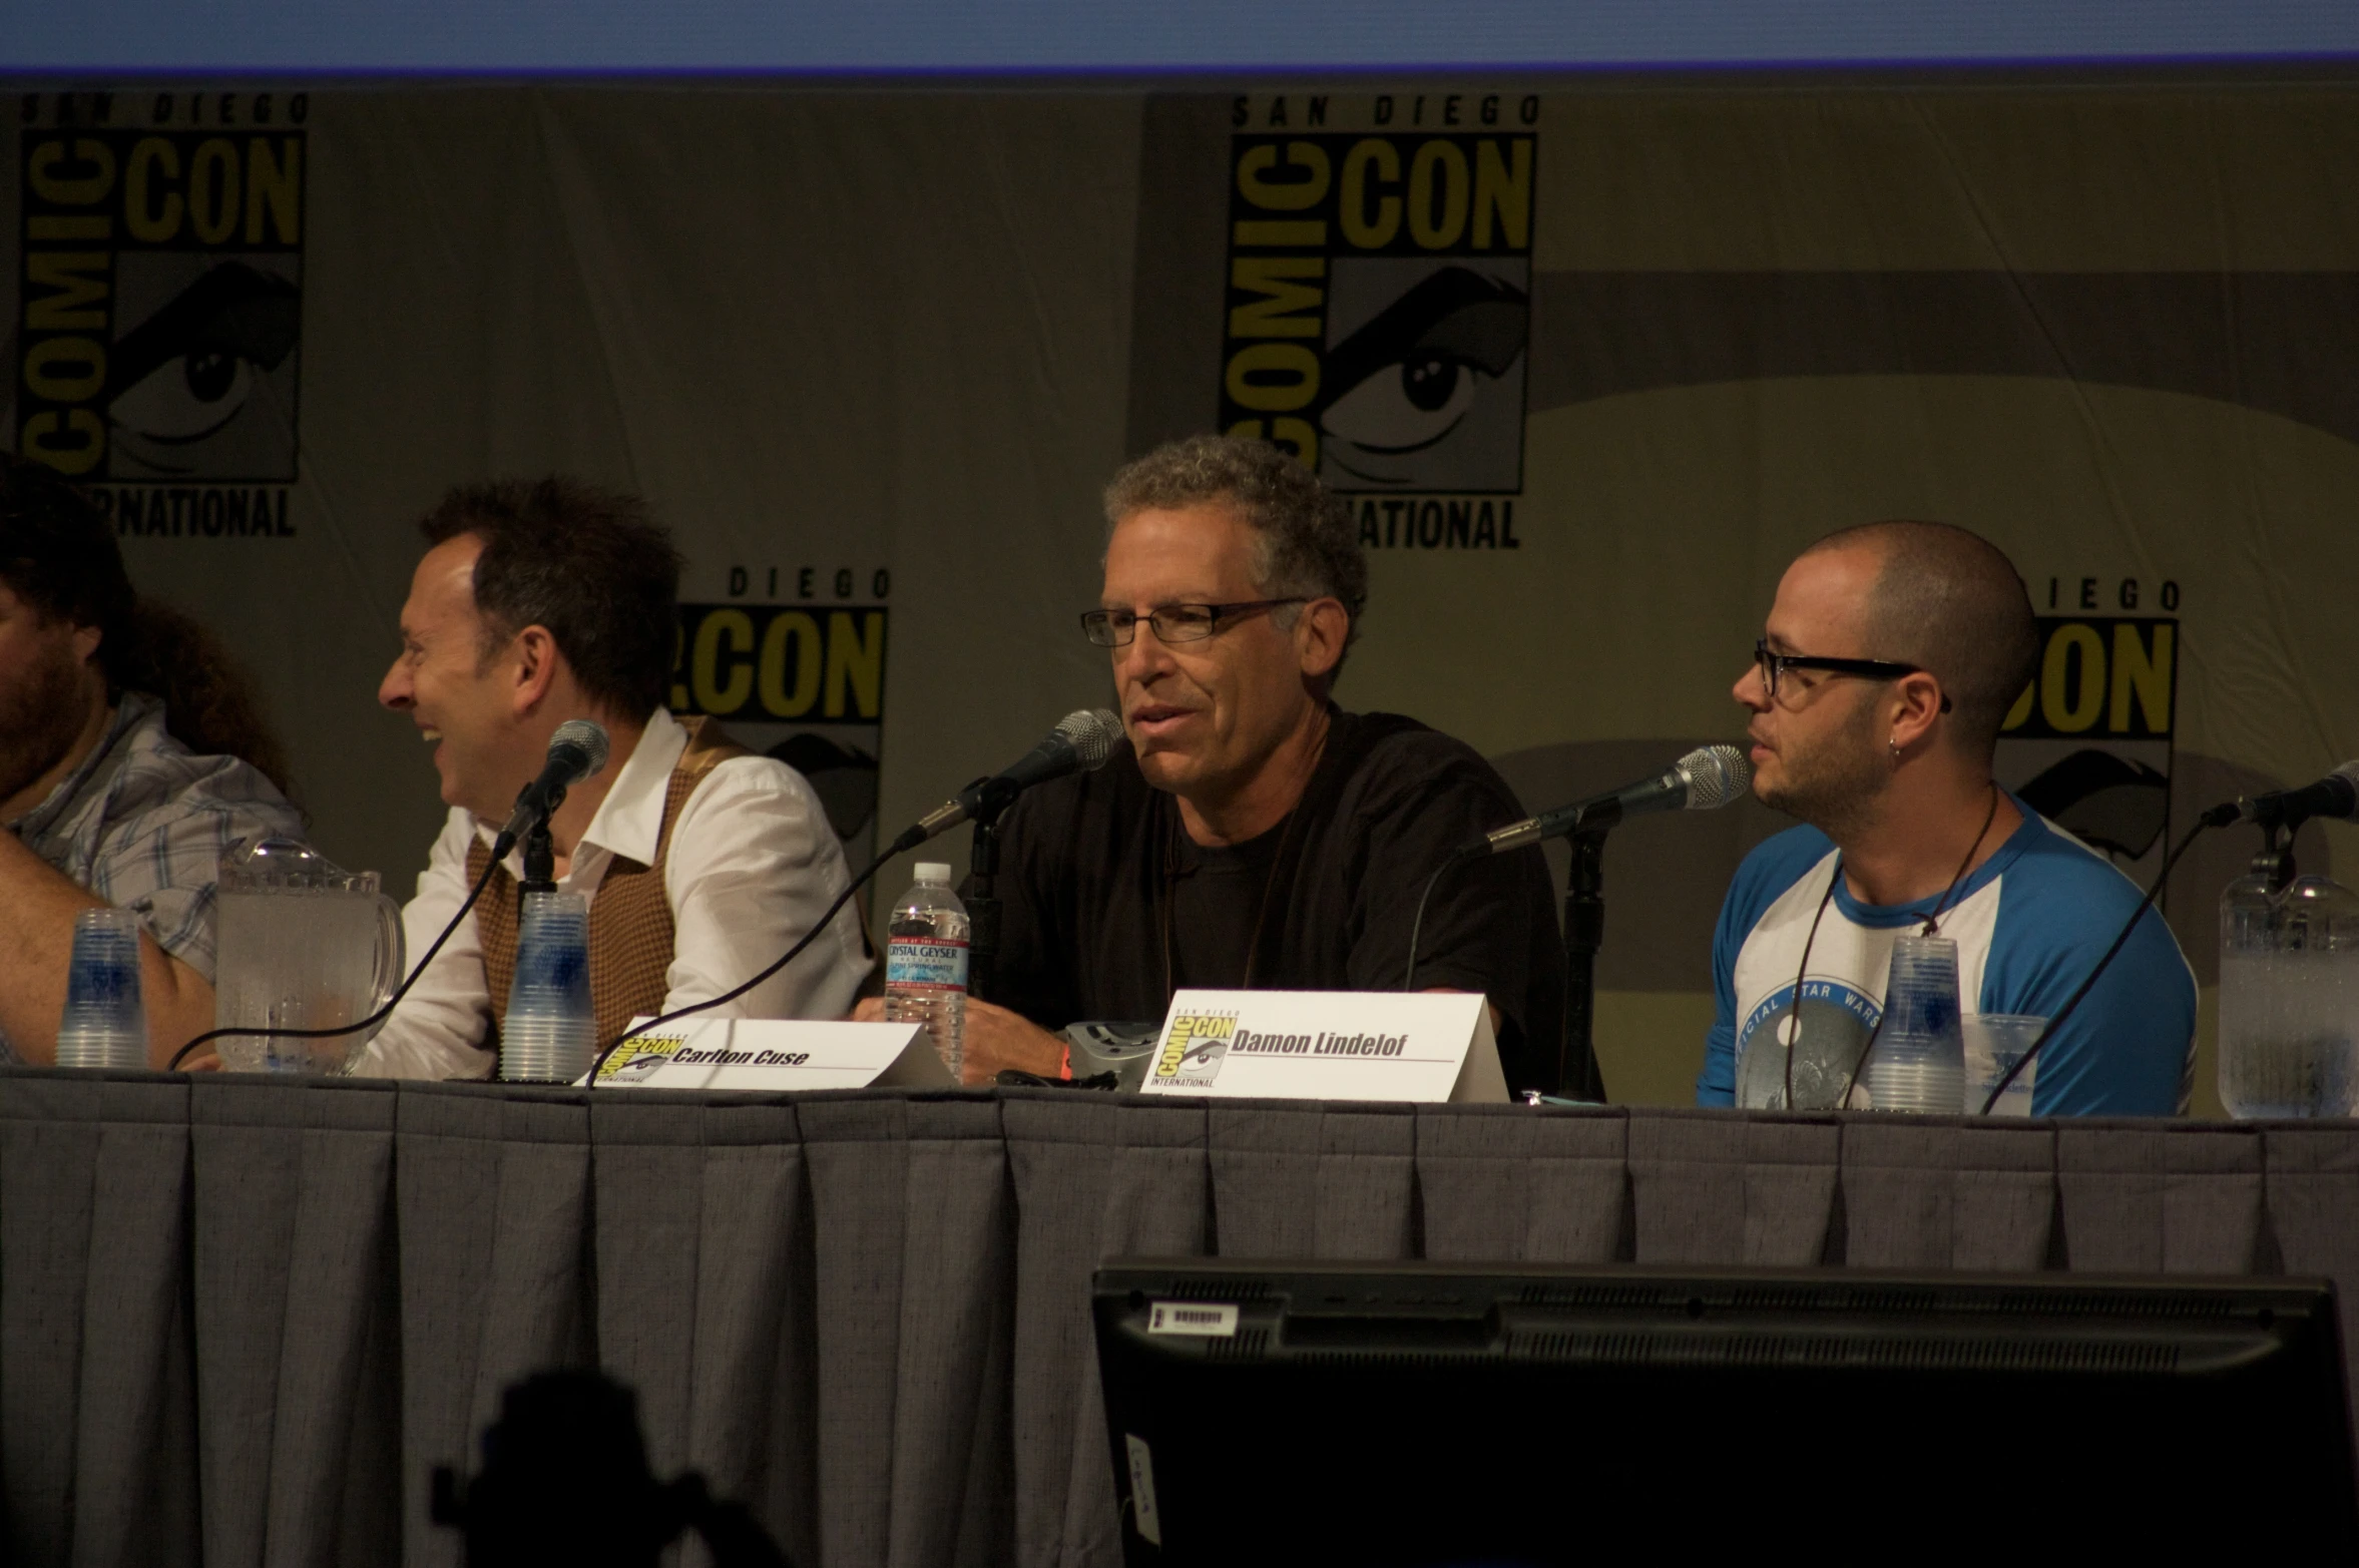
<path id="1" fill-rule="evenodd" d="M 639 865 L 616 856 L 590 901 L 590 1009 L 602 1042 L 620 1035 L 635 1016 L 663 1012 L 663 976 L 672 967 L 672 903 L 663 896 L 663 863 L 672 851 L 679 809 L 705 773 L 731 757 L 753 757 L 712 719 L 682 719 L 679 726 L 689 731 L 689 745 L 663 795 L 656 858 Z M 467 846 L 467 887 L 474 887 L 486 865 L 491 844 L 479 837 Z M 498 1049 L 507 988 L 517 981 L 517 879 L 505 865 L 491 875 L 491 887 L 474 905 L 474 929 L 484 943 L 484 979 L 491 981 L 491 1037 L 484 1045 Z"/>

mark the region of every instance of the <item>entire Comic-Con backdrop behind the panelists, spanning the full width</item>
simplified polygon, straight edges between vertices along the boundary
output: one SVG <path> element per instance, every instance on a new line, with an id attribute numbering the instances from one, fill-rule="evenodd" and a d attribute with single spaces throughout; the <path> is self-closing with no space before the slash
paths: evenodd
<path id="1" fill-rule="evenodd" d="M 314 835 L 396 887 L 441 811 L 373 700 L 415 519 L 552 469 L 672 523 L 672 705 L 854 854 L 1106 698 L 1097 490 L 1201 429 L 1347 498 L 1338 696 L 1533 806 L 1736 738 L 1786 561 L 1880 516 L 2015 556 L 2000 773 L 2125 875 L 2359 752 L 2354 92 L 175 87 L 5 134 L 9 443 L 255 665 Z M 1779 825 L 1616 835 L 1618 1094 L 1684 1094 Z M 2168 891 L 2206 983 L 2250 849 Z"/>

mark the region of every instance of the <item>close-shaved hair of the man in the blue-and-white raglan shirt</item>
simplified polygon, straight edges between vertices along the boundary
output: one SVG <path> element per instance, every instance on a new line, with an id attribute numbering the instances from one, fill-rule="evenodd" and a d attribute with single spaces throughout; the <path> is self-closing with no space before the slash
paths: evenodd
<path id="1" fill-rule="evenodd" d="M 1875 554 L 1864 606 L 1873 655 L 1932 672 L 1960 740 L 1989 757 L 2038 665 L 2031 594 L 2005 552 L 1967 528 L 1916 521 L 1840 528 L 1802 554 L 1821 549 Z"/>

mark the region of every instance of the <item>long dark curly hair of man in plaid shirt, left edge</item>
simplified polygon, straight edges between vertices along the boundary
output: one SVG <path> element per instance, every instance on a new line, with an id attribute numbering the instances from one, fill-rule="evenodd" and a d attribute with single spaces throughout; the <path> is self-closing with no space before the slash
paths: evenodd
<path id="1" fill-rule="evenodd" d="M 238 757 L 293 797 L 285 747 L 245 670 L 189 615 L 142 599 L 116 533 L 54 469 L 0 453 L 0 582 L 40 615 L 99 630 L 111 696 L 163 698 L 163 724 L 191 752 Z"/>

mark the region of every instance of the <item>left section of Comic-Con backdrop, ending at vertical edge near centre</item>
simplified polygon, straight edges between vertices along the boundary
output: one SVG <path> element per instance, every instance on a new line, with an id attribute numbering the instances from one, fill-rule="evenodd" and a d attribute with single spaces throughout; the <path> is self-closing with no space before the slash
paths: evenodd
<path id="1" fill-rule="evenodd" d="M 1071 615 L 1123 443 L 1137 125 L 1116 97 L 19 94 L 7 443 L 255 667 L 314 837 L 394 889 L 443 811 L 375 703 L 415 519 L 493 476 L 635 490 L 686 556 L 672 710 L 797 766 L 863 863 L 880 818 L 1102 700 Z"/>

